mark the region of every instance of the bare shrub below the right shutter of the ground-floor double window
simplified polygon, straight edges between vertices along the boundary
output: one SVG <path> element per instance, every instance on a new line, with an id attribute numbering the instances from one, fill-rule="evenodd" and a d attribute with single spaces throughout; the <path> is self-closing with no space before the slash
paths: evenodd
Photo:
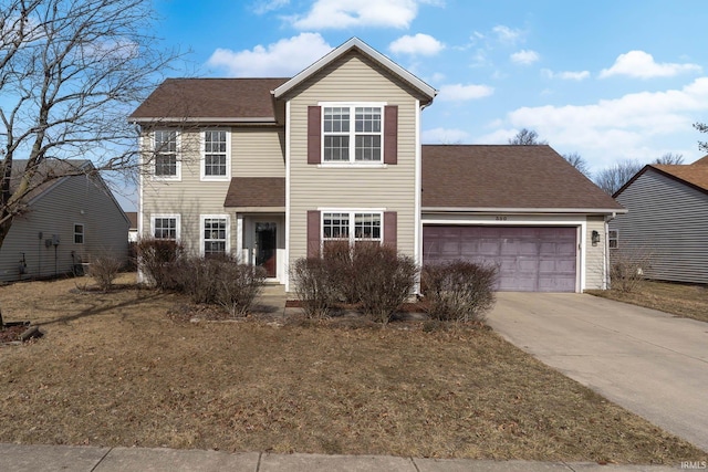
<path id="1" fill-rule="evenodd" d="M 357 243 L 352 249 L 352 284 L 363 312 L 385 327 L 408 300 L 418 266 L 408 255 L 377 243 Z"/>

